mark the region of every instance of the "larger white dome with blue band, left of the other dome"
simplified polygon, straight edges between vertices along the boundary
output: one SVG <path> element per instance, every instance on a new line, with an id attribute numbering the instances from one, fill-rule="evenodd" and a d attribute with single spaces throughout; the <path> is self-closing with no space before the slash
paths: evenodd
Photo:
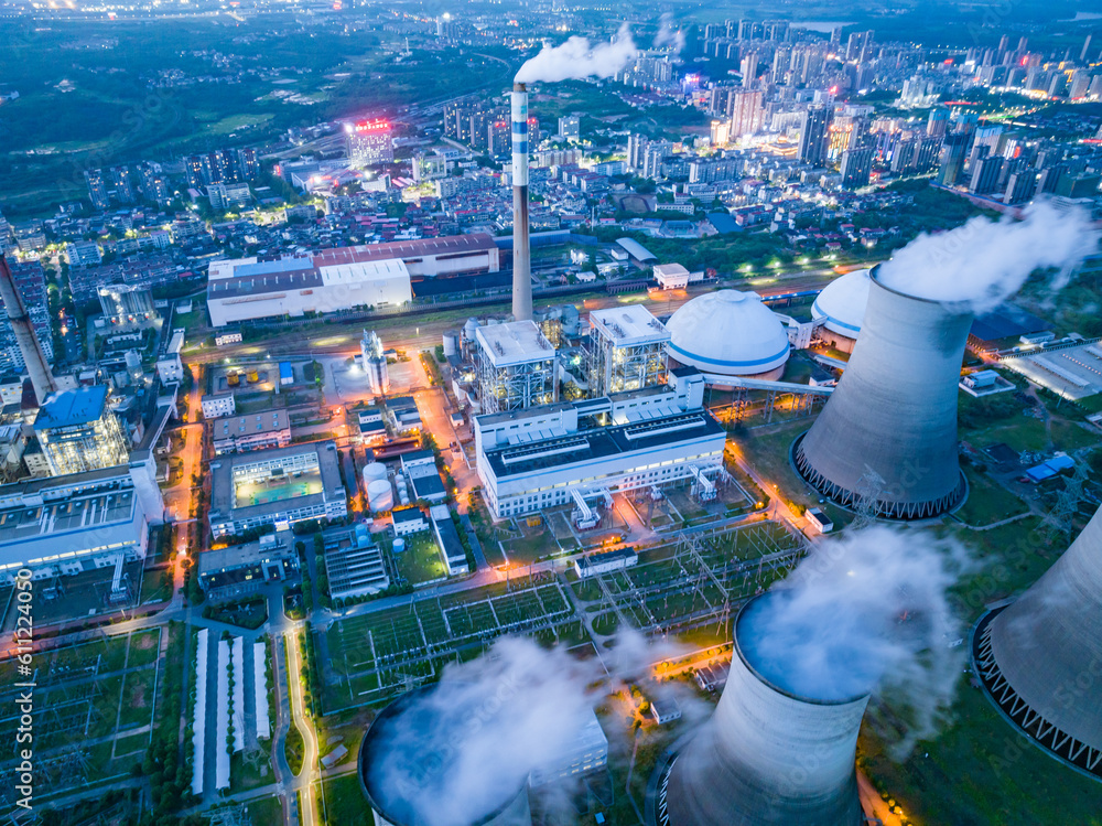
<path id="1" fill-rule="evenodd" d="M 698 296 L 666 324 L 670 358 L 712 376 L 777 379 L 788 361 L 788 332 L 755 292 Z M 723 386 L 722 380 L 710 384 Z"/>

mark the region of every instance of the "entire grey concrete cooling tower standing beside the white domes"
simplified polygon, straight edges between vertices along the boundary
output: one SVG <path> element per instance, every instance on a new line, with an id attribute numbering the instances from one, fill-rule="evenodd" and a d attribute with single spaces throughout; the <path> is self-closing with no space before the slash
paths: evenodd
<path id="1" fill-rule="evenodd" d="M 793 459 L 840 505 L 871 496 L 875 516 L 921 519 L 951 511 L 968 492 L 957 460 L 957 385 L 972 314 L 885 287 L 877 269 L 850 363 Z"/>

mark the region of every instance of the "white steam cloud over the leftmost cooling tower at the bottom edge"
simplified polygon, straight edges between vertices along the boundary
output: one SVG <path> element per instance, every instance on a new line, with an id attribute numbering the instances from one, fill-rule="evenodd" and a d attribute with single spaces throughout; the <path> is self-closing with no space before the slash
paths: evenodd
<path id="1" fill-rule="evenodd" d="M 611 679 L 635 679 L 678 651 L 629 632 L 602 663 L 504 637 L 489 654 L 445 668 L 435 689 L 387 725 L 372 789 L 388 790 L 391 813 L 408 823 L 476 823 L 569 752 Z"/>

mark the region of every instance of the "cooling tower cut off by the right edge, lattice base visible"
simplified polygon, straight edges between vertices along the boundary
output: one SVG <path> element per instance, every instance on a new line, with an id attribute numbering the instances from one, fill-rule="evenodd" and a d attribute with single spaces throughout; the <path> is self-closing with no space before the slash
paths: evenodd
<path id="1" fill-rule="evenodd" d="M 1102 780 L 1102 508 L 1029 590 L 980 620 L 972 658 L 1004 717 Z"/>

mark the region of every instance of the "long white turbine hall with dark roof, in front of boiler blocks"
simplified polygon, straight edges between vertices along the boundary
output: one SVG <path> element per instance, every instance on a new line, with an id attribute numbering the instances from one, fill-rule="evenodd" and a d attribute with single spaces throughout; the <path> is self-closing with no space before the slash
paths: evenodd
<path id="1" fill-rule="evenodd" d="M 722 427 L 703 407 L 699 373 L 612 397 L 478 416 L 476 461 L 496 517 L 538 513 L 614 491 L 689 481 L 714 492 L 723 471 Z M 592 527 L 592 524 L 590 525 Z"/>

